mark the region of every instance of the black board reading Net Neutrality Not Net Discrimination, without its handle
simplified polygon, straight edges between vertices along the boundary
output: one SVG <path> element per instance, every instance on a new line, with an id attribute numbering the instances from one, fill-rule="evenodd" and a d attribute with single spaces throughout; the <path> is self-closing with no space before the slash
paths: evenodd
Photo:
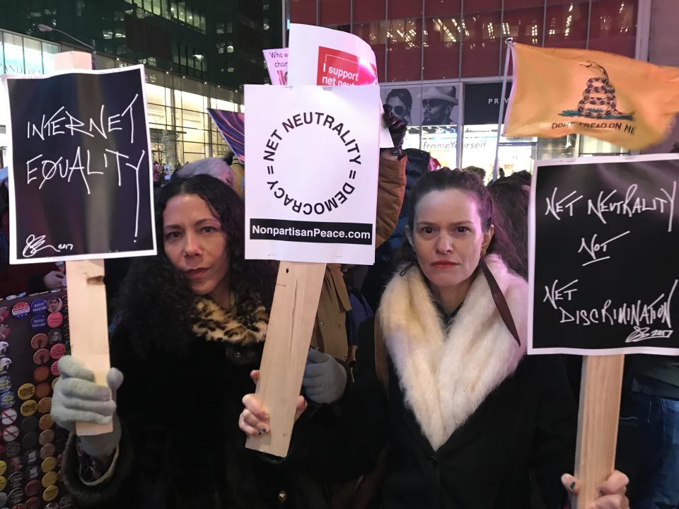
<path id="1" fill-rule="evenodd" d="M 667 157 L 535 170 L 530 353 L 679 353 L 679 158 Z"/>

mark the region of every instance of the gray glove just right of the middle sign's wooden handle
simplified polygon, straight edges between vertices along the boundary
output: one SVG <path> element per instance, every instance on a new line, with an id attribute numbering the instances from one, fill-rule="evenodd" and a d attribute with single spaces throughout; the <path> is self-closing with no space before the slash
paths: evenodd
<path id="1" fill-rule="evenodd" d="M 302 388 L 314 403 L 333 403 L 347 387 L 347 370 L 327 353 L 311 349 L 306 358 Z"/>

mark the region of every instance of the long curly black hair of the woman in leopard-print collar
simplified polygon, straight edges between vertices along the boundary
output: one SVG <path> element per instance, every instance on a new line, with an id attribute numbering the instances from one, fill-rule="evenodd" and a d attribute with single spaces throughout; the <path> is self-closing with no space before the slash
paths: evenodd
<path id="1" fill-rule="evenodd" d="M 118 315 L 139 351 L 155 344 L 180 351 L 190 339 L 191 316 L 196 296 L 183 274 L 163 248 L 163 211 L 180 194 L 197 194 L 209 206 L 226 233 L 231 267 L 229 286 L 236 297 L 236 312 L 248 300 L 257 299 L 271 308 L 275 268 L 271 262 L 245 260 L 245 210 L 236 191 L 208 175 L 176 179 L 161 189 L 156 199 L 156 257 L 134 260 L 117 297 Z"/>

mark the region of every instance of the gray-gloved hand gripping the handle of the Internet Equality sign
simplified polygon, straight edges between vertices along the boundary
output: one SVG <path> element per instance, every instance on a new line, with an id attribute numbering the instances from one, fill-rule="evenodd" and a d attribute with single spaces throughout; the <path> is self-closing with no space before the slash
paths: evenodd
<path id="1" fill-rule="evenodd" d="M 115 414 L 115 392 L 122 384 L 122 373 L 111 368 L 106 375 L 108 387 L 97 385 L 94 374 L 72 356 L 59 359 L 61 378 L 54 385 L 52 418 L 62 428 L 75 430 L 76 422 L 113 423 L 112 433 L 81 436 L 83 451 L 92 457 L 108 457 L 120 441 L 120 421 Z"/>

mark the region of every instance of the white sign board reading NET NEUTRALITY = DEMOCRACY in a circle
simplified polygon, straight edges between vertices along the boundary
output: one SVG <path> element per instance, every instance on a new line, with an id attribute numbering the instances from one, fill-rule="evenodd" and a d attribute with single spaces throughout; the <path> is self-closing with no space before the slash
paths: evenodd
<path id="1" fill-rule="evenodd" d="M 245 86 L 246 258 L 373 264 L 378 98 L 376 86 Z"/>

